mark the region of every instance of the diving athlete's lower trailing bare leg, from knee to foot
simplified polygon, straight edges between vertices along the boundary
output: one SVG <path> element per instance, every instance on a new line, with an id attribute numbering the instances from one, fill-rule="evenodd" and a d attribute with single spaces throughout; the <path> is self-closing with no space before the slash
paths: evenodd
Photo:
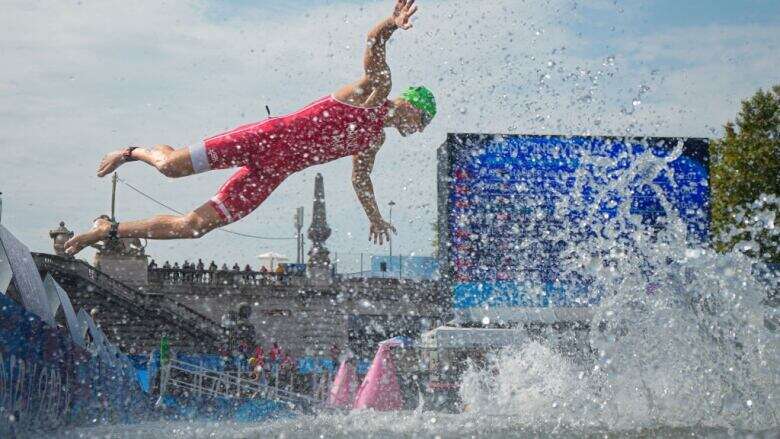
<path id="1" fill-rule="evenodd" d="M 214 204 L 209 201 L 185 215 L 158 215 L 152 218 L 119 223 L 117 237 L 147 239 L 200 238 L 225 225 Z M 98 219 L 92 228 L 65 243 L 65 251 L 74 255 L 87 246 L 108 238 L 111 223 Z"/>

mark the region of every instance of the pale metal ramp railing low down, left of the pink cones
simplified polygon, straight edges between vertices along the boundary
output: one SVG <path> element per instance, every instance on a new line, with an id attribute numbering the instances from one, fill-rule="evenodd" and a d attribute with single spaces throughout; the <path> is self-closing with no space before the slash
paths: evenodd
<path id="1" fill-rule="evenodd" d="M 168 393 L 186 393 L 195 397 L 262 398 L 304 412 L 324 408 L 321 399 L 289 390 L 291 382 L 285 389 L 280 385 L 278 374 L 276 385 L 271 386 L 259 379 L 245 378 L 240 372 L 221 372 L 175 358 L 168 360 L 160 373 L 161 398 Z"/>

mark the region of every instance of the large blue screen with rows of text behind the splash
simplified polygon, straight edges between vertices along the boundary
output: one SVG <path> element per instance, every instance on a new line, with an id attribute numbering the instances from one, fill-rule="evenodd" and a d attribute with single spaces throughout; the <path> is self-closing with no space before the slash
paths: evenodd
<path id="1" fill-rule="evenodd" d="M 706 139 L 450 134 L 439 160 L 441 266 L 455 308 L 598 303 L 587 279 L 560 275 L 559 258 L 599 233 L 594 222 L 629 215 L 658 228 L 673 209 L 688 239 L 708 237 Z"/>

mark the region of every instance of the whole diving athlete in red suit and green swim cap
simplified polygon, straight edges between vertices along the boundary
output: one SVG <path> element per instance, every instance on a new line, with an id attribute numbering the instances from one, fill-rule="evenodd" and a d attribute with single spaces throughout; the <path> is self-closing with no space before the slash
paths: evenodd
<path id="1" fill-rule="evenodd" d="M 352 156 L 352 184 L 370 222 L 369 240 L 389 240 L 395 228 L 382 219 L 370 178 L 385 141 L 384 128 L 407 136 L 423 131 L 436 115 L 433 94 L 425 87 L 410 87 L 388 100 L 392 83 L 387 40 L 396 29 L 410 29 L 416 11 L 414 0 L 398 0 L 392 15 L 368 33 L 363 77 L 295 113 L 242 125 L 189 148 L 131 146 L 106 155 L 99 177 L 131 161 L 147 163 L 172 178 L 212 169 L 239 170 L 192 212 L 121 223 L 98 219 L 92 229 L 65 244 L 67 253 L 74 255 L 107 238 L 199 238 L 248 215 L 289 175 L 346 156 Z"/>

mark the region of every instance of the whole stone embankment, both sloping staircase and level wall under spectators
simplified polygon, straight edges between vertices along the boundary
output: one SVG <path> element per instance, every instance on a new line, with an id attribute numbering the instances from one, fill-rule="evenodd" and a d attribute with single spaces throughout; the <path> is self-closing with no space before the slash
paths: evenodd
<path id="1" fill-rule="evenodd" d="M 435 281 L 337 275 L 323 284 L 305 275 L 150 269 L 145 284 L 129 286 L 80 260 L 33 258 L 42 274 L 72 291 L 77 306 L 95 309 L 111 342 L 127 352 L 155 348 L 163 332 L 180 350 L 213 352 L 227 343 L 223 316 L 247 303 L 263 346 L 276 341 L 300 356 L 327 354 L 335 344 L 370 355 L 376 342 L 417 335 L 450 309 Z"/>

